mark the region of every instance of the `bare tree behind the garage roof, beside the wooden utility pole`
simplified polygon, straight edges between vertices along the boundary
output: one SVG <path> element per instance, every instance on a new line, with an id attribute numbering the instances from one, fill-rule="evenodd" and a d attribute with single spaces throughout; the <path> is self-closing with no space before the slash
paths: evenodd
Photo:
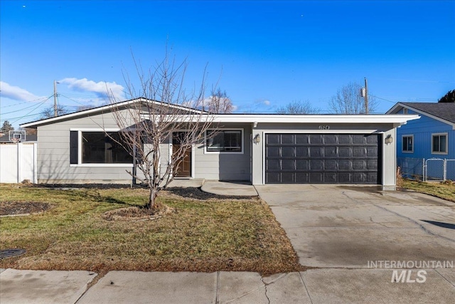
<path id="1" fill-rule="evenodd" d="M 361 95 L 362 85 L 350 82 L 339 88 L 328 106 L 337 114 L 365 114 L 365 100 Z M 368 113 L 376 109 L 376 100 L 368 95 Z"/>

